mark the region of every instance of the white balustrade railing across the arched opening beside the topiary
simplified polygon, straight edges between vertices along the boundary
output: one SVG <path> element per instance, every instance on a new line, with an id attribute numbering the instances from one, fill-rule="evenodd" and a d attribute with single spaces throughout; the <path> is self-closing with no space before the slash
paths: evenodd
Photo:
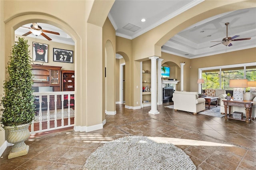
<path id="1" fill-rule="evenodd" d="M 74 119 L 74 91 L 34 92 L 33 95 L 39 101 L 30 134 L 74 126 L 74 123 L 71 124 L 71 119 Z"/>

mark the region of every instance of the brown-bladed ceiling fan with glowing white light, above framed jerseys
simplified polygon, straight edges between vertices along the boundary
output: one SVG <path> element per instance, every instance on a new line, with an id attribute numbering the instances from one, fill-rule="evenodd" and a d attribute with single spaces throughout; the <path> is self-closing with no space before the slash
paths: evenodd
<path id="1" fill-rule="evenodd" d="M 24 27 L 22 26 L 23 28 L 28 28 L 28 27 Z M 51 41 L 52 39 L 50 39 L 50 37 L 46 36 L 46 34 L 44 34 L 43 32 L 47 32 L 47 33 L 51 33 L 51 34 L 56 34 L 56 35 L 60 35 L 60 33 L 58 32 L 53 32 L 53 31 L 48 31 L 48 30 L 42 30 L 42 27 L 41 26 L 38 26 L 37 23 L 32 23 L 30 25 L 30 29 L 29 32 L 23 34 L 22 36 L 28 36 L 29 34 L 33 33 L 35 36 L 39 36 L 40 34 L 42 36 L 44 36 L 44 38 L 46 38 L 47 40 Z"/>

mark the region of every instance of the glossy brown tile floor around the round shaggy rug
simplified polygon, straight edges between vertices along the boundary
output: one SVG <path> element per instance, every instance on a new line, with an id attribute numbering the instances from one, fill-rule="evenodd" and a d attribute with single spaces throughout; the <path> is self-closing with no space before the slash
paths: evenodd
<path id="1" fill-rule="evenodd" d="M 106 115 L 101 130 L 75 132 L 65 130 L 43 136 L 30 136 L 25 156 L 8 159 L 10 147 L 0 159 L 1 170 L 79 170 L 86 158 L 105 142 L 128 135 L 170 138 L 184 150 L 198 170 L 255 170 L 256 122 L 228 120 L 224 117 L 193 115 L 158 106 L 158 115 L 149 115 L 150 107 L 131 110 L 116 105 L 116 115 Z"/>

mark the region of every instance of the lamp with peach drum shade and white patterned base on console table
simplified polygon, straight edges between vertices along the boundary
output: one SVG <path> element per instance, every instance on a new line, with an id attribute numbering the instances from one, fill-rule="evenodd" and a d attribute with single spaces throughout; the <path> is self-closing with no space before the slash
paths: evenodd
<path id="1" fill-rule="evenodd" d="M 229 81 L 229 87 L 234 87 L 233 100 L 243 101 L 244 100 L 244 89 L 248 87 L 247 79 L 231 79 Z"/>

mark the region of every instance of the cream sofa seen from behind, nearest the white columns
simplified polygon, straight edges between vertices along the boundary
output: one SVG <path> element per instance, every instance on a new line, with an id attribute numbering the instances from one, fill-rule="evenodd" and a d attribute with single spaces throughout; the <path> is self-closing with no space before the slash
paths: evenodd
<path id="1" fill-rule="evenodd" d="M 198 92 L 174 91 L 172 101 L 175 110 L 192 112 L 194 115 L 205 109 L 205 99 L 198 98 Z"/>

